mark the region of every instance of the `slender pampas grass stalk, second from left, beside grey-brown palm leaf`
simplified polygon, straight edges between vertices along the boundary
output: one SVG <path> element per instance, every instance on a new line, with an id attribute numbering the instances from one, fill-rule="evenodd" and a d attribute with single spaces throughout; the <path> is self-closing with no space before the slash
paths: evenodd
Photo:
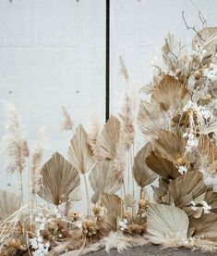
<path id="1" fill-rule="evenodd" d="M 30 214 L 33 211 L 34 197 L 38 192 L 41 162 L 44 151 L 46 127 L 42 126 L 37 135 L 30 160 Z"/>

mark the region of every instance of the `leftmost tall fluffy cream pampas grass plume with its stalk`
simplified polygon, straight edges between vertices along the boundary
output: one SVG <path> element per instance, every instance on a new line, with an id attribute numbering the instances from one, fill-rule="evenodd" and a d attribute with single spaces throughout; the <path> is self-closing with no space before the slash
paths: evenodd
<path id="1" fill-rule="evenodd" d="M 23 127 L 18 111 L 14 105 L 5 102 L 7 120 L 5 125 L 6 134 L 1 140 L 1 150 L 6 155 L 6 171 L 18 172 L 19 193 L 23 198 L 22 173 L 26 166 L 26 160 L 30 156 L 27 140 L 23 134 Z"/>

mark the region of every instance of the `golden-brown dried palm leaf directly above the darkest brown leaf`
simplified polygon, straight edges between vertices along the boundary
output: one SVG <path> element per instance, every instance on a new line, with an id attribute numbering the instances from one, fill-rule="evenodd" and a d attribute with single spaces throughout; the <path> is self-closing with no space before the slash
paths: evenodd
<path id="1" fill-rule="evenodd" d="M 186 150 L 186 142 L 183 137 L 164 130 L 161 131 L 152 145 L 163 158 L 173 161 L 174 163 L 183 157 Z"/>

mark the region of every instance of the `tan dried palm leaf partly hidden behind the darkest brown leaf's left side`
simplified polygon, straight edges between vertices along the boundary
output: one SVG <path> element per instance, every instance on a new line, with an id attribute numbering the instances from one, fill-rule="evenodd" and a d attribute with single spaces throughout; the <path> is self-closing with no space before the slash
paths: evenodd
<path id="1" fill-rule="evenodd" d="M 150 152 L 151 143 L 148 143 L 139 150 L 134 160 L 133 174 L 140 187 L 150 185 L 158 176 L 146 165 L 146 158 L 149 156 Z"/>

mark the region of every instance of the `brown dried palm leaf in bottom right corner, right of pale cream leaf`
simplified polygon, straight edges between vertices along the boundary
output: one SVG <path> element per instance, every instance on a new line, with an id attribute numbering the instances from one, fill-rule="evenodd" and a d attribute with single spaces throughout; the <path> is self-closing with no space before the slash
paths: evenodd
<path id="1" fill-rule="evenodd" d="M 194 237 L 217 237 L 217 214 L 210 212 L 202 214 L 200 218 L 190 219 L 190 228 L 194 228 Z"/>

